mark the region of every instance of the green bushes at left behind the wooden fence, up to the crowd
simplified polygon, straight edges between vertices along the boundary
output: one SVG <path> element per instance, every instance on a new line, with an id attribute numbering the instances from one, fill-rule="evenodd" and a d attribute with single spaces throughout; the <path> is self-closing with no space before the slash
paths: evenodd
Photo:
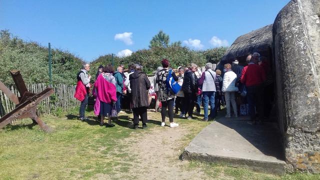
<path id="1" fill-rule="evenodd" d="M 52 82 L 75 84 L 83 60 L 60 49 L 52 49 Z M 9 70 L 20 70 L 25 83 L 48 83 L 48 48 L 23 41 L 8 30 L 0 32 L 0 80 L 13 84 Z"/>

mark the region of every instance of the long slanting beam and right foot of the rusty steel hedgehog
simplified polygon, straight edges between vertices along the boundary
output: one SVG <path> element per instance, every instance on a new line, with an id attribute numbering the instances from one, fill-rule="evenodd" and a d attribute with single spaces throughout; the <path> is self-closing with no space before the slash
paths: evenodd
<path id="1" fill-rule="evenodd" d="M 54 93 L 52 88 L 45 88 L 42 92 L 37 93 L 27 99 L 26 101 L 18 104 L 15 109 L 11 112 L 8 112 L 3 117 L 0 118 L 0 128 L 4 127 L 12 120 L 16 118 L 25 118 L 30 117 L 40 126 L 43 131 L 50 131 L 50 127 L 47 126 L 37 115 L 36 115 L 36 107 L 37 104 L 40 103 L 41 100 L 45 99 L 49 95 Z"/>

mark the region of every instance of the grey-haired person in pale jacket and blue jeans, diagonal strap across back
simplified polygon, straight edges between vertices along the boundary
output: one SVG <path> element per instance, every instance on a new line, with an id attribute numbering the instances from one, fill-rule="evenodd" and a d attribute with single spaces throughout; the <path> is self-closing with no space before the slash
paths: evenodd
<path id="1" fill-rule="evenodd" d="M 210 118 L 215 118 L 215 110 L 214 110 L 214 97 L 215 97 L 215 72 L 211 69 L 212 63 L 208 62 L 205 64 L 205 71 L 202 73 L 199 79 L 199 85 L 202 85 L 202 100 L 203 100 L 203 111 L 204 121 L 208 120 L 208 116 Z M 208 115 L 208 102 L 210 102 L 210 114 Z"/>

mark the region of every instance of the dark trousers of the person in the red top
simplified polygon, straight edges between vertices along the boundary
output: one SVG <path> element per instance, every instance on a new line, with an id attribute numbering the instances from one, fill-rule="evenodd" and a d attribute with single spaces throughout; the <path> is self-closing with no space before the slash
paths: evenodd
<path id="1" fill-rule="evenodd" d="M 249 114 L 251 120 L 255 121 L 255 109 L 259 116 L 263 116 L 263 104 L 262 104 L 262 86 L 246 86 L 246 98 L 249 104 Z"/>

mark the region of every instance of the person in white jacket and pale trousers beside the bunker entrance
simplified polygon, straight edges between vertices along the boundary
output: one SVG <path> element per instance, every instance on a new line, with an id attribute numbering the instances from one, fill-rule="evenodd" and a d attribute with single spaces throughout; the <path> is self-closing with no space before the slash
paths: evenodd
<path id="1" fill-rule="evenodd" d="M 225 117 L 231 117 L 231 106 L 233 108 L 234 116 L 237 117 L 237 108 L 235 102 L 235 92 L 238 91 L 238 87 L 235 86 L 236 74 L 231 70 L 231 64 L 224 64 L 224 75 L 222 83 L 222 92 L 224 92 L 226 115 Z"/>

